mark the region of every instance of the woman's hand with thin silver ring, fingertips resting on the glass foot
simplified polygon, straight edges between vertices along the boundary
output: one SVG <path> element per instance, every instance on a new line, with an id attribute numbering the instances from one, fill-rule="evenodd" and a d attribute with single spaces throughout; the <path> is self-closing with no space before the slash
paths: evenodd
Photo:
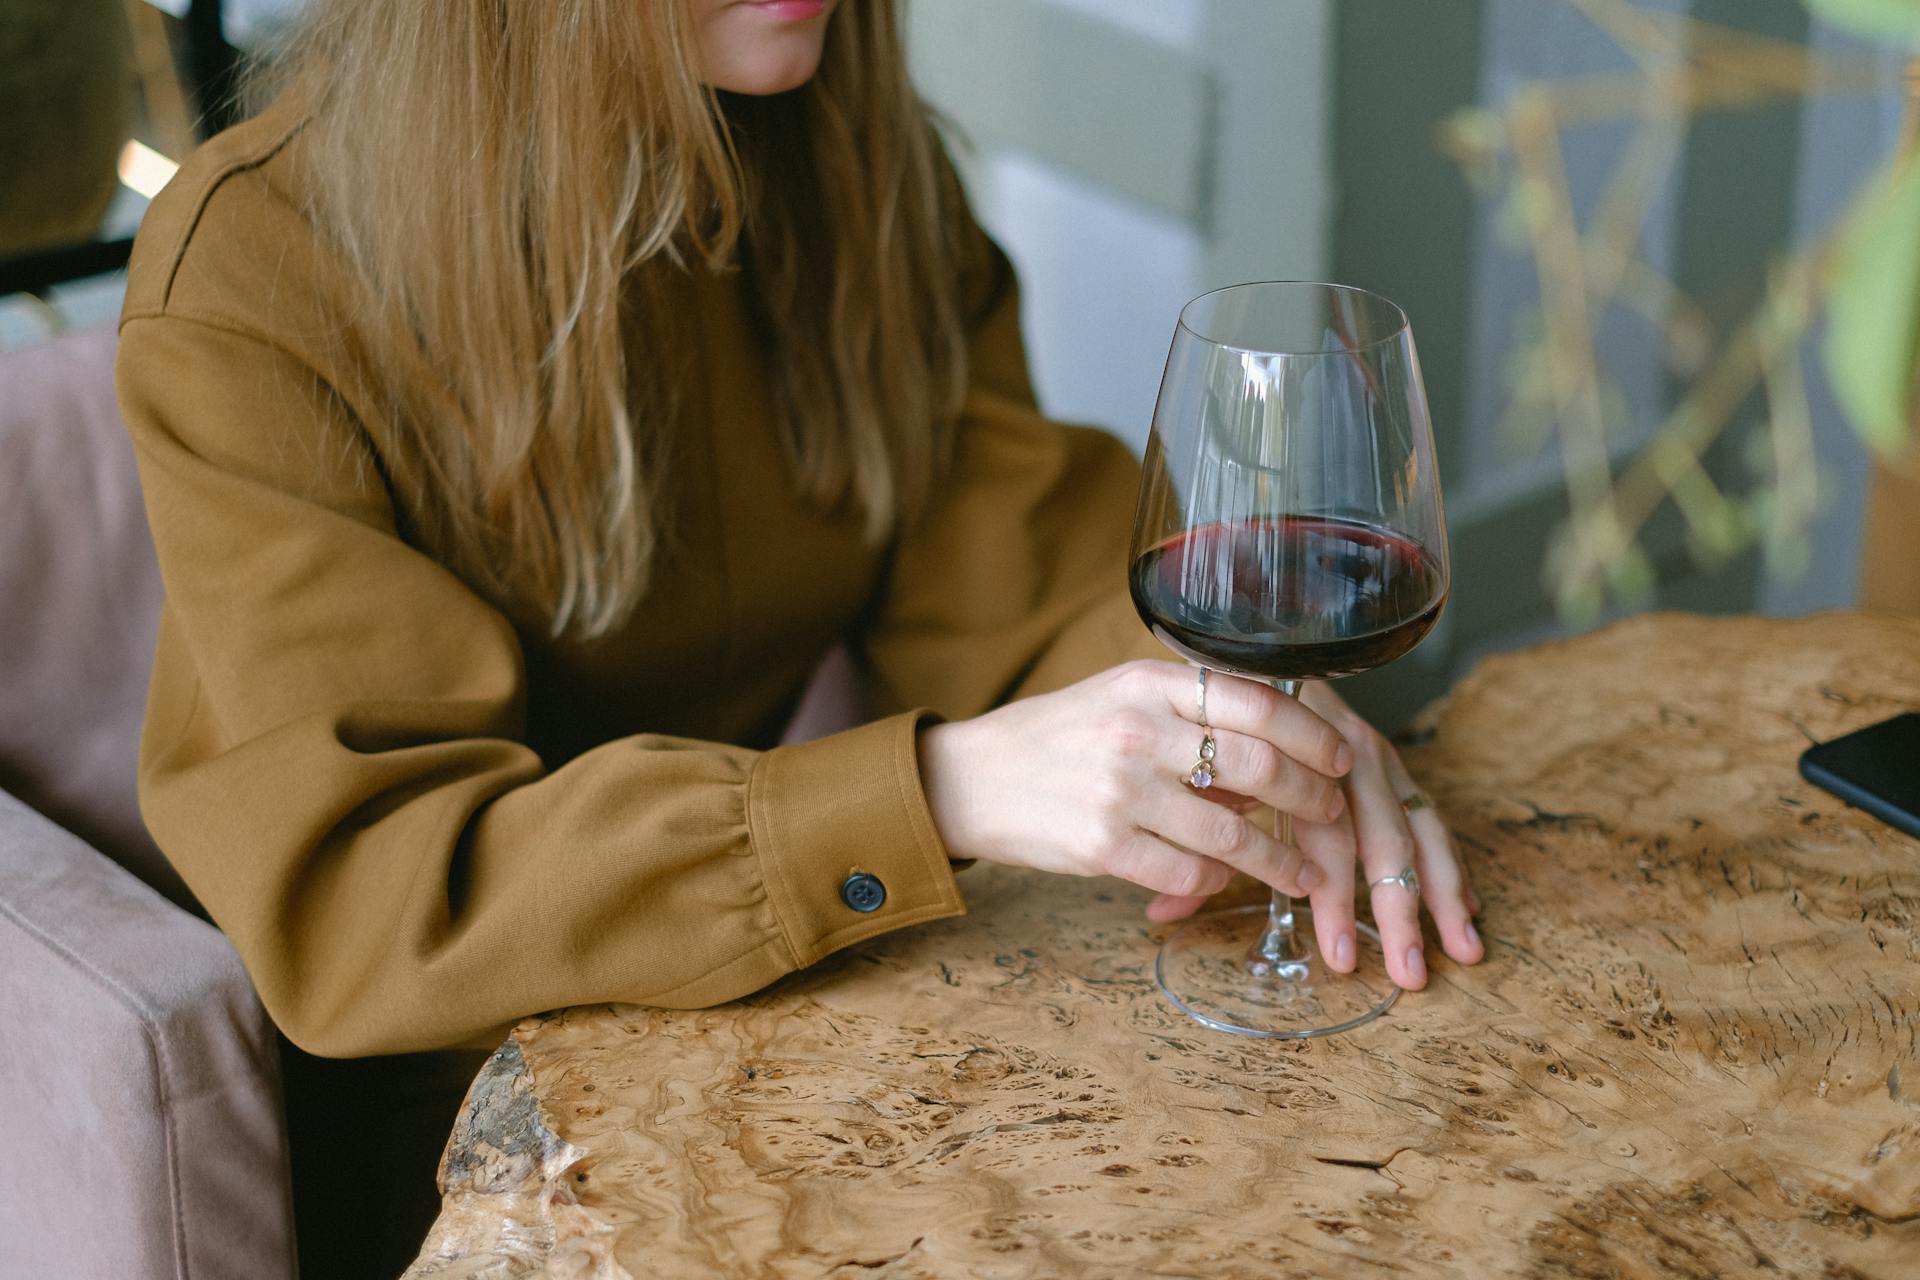
<path id="1" fill-rule="evenodd" d="M 1294 818 L 1294 839 L 1313 865 L 1325 871 L 1325 879 L 1309 892 L 1321 956 L 1342 973 L 1354 967 L 1357 854 L 1359 875 L 1373 885 L 1373 921 L 1386 950 L 1386 971 L 1398 984 L 1409 990 L 1427 984 L 1421 898 L 1427 900 L 1446 954 L 1463 965 L 1478 963 L 1486 956 L 1473 927 L 1480 898 L 1453 856 L 1453 841 L 1440 816 L 1432 808 L 1405 808 L 1404 800 L 1421 794 L 1421 789 L 1413 785 L 1394 745 L 1356 716 L 1331 685 L 1302 685 L 1300 700 L 1340 729 L 1356 756 L 1354 770 L 1344 779 L 1346 812 L 1332 821 Z M 1375 885 L 1405 867 L 1413 867 L 1419 877 L 1419 896 L 1396 883 Z M 1162 894 L 1146 913 L 1152 919 L 1181 919 L 1192 915 L 1202 902 L 1204 896 Z"/>

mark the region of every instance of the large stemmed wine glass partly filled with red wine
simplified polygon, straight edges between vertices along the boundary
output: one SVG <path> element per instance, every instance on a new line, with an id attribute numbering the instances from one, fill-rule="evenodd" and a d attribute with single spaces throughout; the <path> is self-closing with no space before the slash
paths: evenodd
<path id="1" fill-rule="evenodd" d="M 1294 697 L 1300 681 L 1392 662 L 1448 595 L 1446 524 L 1427 391 L 1400 307 L 1365 290 L 1279 280 L 1187 303 L 1154 405 L 1129 585 L 1175 654 Z M 1196 743 L 1200 731 L 1196 729 Z M 1215 783 L 1198 768 L 1187 785 Z M 1292 842 L 1292 816 L 1277 835 Z M 1156 977 L 1215 1031 L 1304 1040 L 1400 996 L 1380 935 L 1359 925 L 1354 973 L 1313 956 L 1311 912 L 1196 915 Z"/>

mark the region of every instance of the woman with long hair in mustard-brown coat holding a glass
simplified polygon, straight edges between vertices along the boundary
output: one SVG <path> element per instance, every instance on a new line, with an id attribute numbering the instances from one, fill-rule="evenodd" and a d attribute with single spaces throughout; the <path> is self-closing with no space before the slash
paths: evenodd
<path id="1" fill-rule="evenodd" d="M 121 395 L 169 597 L 142 806 L 294 1042 L 732 1000 L 960 912 L 968 858 L 1156 919 L 1246 871 L 1344 969 L 1357 837 L 1478 960 L 1331 691 L 1210 693 L 1298 850 L 1181 783 L 1135 462 L 1035 411 L 891 0 L 321 0 L 290 67 L 148 215 Z M 776 747 L 841 639 L 881 718 Z M 1375 912 L 1423 984 L 1411 894 Z"/>

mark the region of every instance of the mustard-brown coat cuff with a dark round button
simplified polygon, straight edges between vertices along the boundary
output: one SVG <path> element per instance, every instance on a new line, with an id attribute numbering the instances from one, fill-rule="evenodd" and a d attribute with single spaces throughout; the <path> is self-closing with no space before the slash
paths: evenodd
<path id="1" fill-rule="evenodd" d="M 920 787 L 920 725 L 931 720 L 889 716 L 755 762 L 747 831 L 795 967 L 966 912 Z M 879 883 L 877 906 L 858 877 Z"/>

